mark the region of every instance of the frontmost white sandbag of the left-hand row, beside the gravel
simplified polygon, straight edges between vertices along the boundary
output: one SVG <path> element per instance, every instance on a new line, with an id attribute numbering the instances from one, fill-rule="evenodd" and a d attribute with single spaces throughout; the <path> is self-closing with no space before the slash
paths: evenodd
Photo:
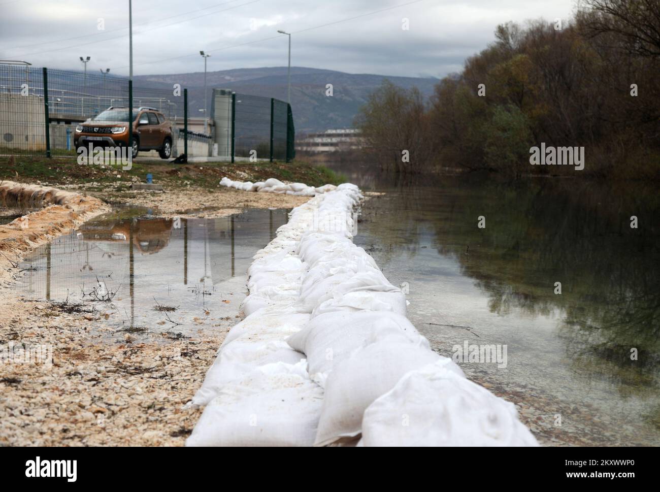
<path id="1" fill-rule="evenodd" d="M 323 391 L 304 361 L 253 370 L 205 407 L 186 446 L 311 446 Z"/>

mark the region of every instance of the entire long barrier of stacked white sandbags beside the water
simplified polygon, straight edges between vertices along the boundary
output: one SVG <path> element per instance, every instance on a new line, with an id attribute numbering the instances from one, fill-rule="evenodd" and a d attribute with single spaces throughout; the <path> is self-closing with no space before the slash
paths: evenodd
<path id="1" fill-rule="evenodd" d="M 430 349 L 353 244 L 360 190 L 322 190 L 254 256 L 246 318 L 189 403 L 206 406 L 186 445 L 537 446 L 513 404 Z M 271 190 L 288 191 L 310 192 Z"/>

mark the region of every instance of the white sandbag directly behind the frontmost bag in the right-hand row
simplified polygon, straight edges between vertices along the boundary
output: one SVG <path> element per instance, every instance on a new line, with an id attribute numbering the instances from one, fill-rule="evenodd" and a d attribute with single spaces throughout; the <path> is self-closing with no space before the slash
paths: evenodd
<path id="1" fill-rule="evenodd" d="M 376 341 L 354 351 L 335 365 L 325 381 L 325 398 L 315 446 L 325 446 L 358 435 L 362 414 L 399 382 L 407 372 L 440 360 L 440 355 L 422 344 L 400 340 Z M 448 360 L 459 374 L 461 369 Z"/>

